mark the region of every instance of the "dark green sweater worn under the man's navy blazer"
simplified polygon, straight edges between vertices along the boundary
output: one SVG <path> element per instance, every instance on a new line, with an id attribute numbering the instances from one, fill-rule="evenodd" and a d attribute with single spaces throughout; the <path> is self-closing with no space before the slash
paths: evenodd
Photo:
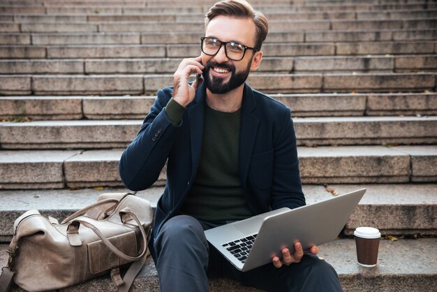
<path id="1" fill-rule="evenodd" d="M 172 123 L 178 124 L 182 115 L 175 115 L 180 108 L 173 103 L 168 103 L 166 112 Z M 204 123 L 198 173 L 181 212 L 206 221 L 251 217 L 239 179 L 241 110 L 219 112 L 206 105 Z"/>

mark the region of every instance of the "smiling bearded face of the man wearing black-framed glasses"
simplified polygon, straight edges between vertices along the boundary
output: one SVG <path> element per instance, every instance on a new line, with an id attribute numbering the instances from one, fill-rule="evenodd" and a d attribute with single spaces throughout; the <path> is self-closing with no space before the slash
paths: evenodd
<path id="1" fill-rule="evenodd" d="M 252 20 L 228 16 L 214 17 L 207 26 L 205 36 L 220 41 L 235 41 L 253 48 L 255 46 L 256 27 Z M 204 82 L 213 94 L 224 94 L 244 84 L 249 72 L 258 68 L 262 52 L 246 50 L 242 60 L 228 59 L 225 46 L 214 56 L 202 53 Z"/>

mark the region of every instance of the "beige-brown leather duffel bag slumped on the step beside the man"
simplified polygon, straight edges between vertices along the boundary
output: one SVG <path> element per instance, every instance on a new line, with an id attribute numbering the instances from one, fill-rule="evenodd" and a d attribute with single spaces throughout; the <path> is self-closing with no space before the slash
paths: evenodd
<path id="1" fill-rule="evenodd" d="M 102 194 L 61 224 L 37 210 L 15 220 L 0 291 L 11 280 L 27 291 L 56 290 L 110 272 L 128 291 L 147 256 L 153 211 L 134 194 Z M 132 263 L 121 279 L 120 266 Z"/>

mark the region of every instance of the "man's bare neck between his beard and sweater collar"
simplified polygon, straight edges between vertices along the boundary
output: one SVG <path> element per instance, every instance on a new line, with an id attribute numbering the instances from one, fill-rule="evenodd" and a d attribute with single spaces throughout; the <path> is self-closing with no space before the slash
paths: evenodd
<path id="1" fill-rule="evenodd" d="M 225 94 L 213 94 L 207 89 L 207 105 L 220 112 L 236 112 L 242 107 L 244 84 Z"/>

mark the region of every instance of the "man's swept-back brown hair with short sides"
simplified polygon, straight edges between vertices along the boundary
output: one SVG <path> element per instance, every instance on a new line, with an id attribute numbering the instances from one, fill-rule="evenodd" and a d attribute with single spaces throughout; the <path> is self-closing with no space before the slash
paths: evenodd
<path id="1" fill-rule="evenodd" d="M 269 24 L 267 23 L 267 17 L 258 10 L 254 10 L 251 4 L 245 0 L 223 0 L 209 8 L 209 11 L 205 15 L 205 28 L 209 22 L 217 16 L 233 16 L 239 18 L 249 18 L 255 23 L 257 30 L 255 48 L 260 50 L 262 42 L 265 41 L 267 33 L 269 32 Z"/>

